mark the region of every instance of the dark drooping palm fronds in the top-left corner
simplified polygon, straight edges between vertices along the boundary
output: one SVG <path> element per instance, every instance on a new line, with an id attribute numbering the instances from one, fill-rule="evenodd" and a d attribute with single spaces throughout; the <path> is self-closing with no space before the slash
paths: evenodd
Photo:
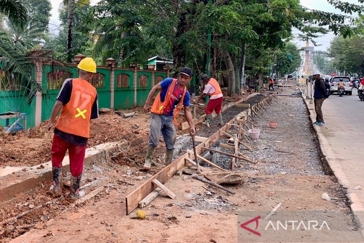
<path id="1" fill-rule="evenodd" d="M 16 26 L 24 27 L 27 23 L 27 9 L 21 0 L 0 0 L 0 13 L 7 15 Z"/>

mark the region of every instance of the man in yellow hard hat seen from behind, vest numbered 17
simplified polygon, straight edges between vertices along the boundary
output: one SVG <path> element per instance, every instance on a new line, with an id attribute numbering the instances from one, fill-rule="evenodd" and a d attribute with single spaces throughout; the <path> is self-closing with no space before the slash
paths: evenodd
<path id="1" fill-rule="evenodd" d="M 54 129 L 50 191 L 56 196 L 62 195 L 62 161 L 68 150 L 73 199 L 84 195 L 79 188 L 90 135 L 90 119 L 99 117 L 96 89 L 89 83 L 96 72 L 96 63 L 92 58 L 84 58 L 77 67 L 79 78 L 64 81 L 47 124 L 47 132 L 51 132 L 52 123 L 62 109 Z"/>

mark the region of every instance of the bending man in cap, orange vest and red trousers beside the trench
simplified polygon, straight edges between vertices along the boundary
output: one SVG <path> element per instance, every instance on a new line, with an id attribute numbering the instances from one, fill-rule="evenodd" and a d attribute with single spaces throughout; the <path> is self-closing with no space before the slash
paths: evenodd
<path id="1" fill-rule="evenodd" d="M 201 76 L 200 82 L 205 83 L 205 89 L 196 103 L 199 103 L 202 99 L 205 99 L 206 95 L 210 96 L 209 103 L 207 103 L 205 109 L 207 121 L 202 122 L 202 124 L 212 124 L 212 112 L 215 110 L 217 117 L 219 118 L 219 125 L 224 125 L 221 114 L 223 95 L 219 83 L 216 81 L 216 79 L 209 78 L 207 74 L 203 74 Z"/>

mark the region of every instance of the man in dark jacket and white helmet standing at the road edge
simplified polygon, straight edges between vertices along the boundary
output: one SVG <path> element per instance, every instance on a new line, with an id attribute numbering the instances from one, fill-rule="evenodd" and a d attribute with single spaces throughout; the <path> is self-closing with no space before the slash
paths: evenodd
<path id="1" fill-rule="evenodd" d="M 316 121 L 313 122 L 313 124 L 323 126 L 325 125 L 325 122 L 321 107 L 322 104 L 324 103 L 324 100 L 326 99 L 326 87 L 325 87 L 325 81 L 323 78 L 321 78 L 320 74 L 321 73 L 318 70 L 315 70 L 313 72 L 313 78 L 315 80 L 313 98 L 316 111 Z"/>

